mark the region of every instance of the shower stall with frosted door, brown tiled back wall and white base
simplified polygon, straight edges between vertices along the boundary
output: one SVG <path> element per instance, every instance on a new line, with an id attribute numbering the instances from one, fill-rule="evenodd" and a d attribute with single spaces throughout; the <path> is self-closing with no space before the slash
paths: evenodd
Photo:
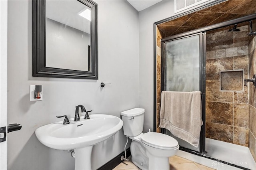
<path id="1" fill-rule="evenodd" d="M 249 67 L 254 62 L 250 55 L 255 55 L 252 48 L 256 38 L 248 36 L 255 18 L 246 16 L 162 38 L 161 82 L 154 89 L 201 91 L 203 125 L 199 146 L 192 146 L 164 128 L 161 132 L 174 137 L 180 150 L 245 170 L 256 169 L 248 148 L 253 85 L 244 86 L 244 79 L 255 74 Z M 160 107 L 155 108 L 158 113 Z M 159 128 L 156 131 L 160 132 Z M 221 169 L 216 164 L 212 168 Z"/>

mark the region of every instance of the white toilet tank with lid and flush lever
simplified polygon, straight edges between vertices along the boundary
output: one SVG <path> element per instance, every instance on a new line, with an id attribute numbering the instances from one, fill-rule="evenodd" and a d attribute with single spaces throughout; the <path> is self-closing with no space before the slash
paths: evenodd
<path id="1" fill-rule="evenodd" d="M 123 129 L 126 136 L 137 136 L 143 130 L 145 109 L 134 108 L 121 112 Z"/>

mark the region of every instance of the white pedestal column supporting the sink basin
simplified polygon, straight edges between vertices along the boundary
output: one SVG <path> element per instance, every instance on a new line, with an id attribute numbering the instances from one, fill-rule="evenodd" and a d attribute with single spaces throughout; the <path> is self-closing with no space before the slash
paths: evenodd
<path id="1" fill-rule="evenodd" d="M 92 146 L 75 149 L 75 170 L 92 170 Z"/>

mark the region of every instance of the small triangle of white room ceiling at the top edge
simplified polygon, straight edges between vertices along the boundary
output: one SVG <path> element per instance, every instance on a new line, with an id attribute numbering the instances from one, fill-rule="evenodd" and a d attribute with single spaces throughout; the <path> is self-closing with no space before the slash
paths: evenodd
<path id="1" fill-rule="evenodd" d="M 137 11 L 142 11 L 162 0 L 127 0 Z"/>

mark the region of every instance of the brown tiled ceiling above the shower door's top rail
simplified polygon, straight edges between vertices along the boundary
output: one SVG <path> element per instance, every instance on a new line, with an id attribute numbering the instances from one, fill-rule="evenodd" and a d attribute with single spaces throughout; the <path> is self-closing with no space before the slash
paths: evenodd
<path id="1" fill-rule="evenodd" d="M 158 25 L 162 38 L 256 13 L 256 0 L 227 0 Z M 246 23 L 238 24 L 243 26 Z M 231 28 L 233 26 L 230 26 Z M 227 29 L 227 28 L 223 28 Z M 220 31 L 220 30 L 219 30 Z"/>

